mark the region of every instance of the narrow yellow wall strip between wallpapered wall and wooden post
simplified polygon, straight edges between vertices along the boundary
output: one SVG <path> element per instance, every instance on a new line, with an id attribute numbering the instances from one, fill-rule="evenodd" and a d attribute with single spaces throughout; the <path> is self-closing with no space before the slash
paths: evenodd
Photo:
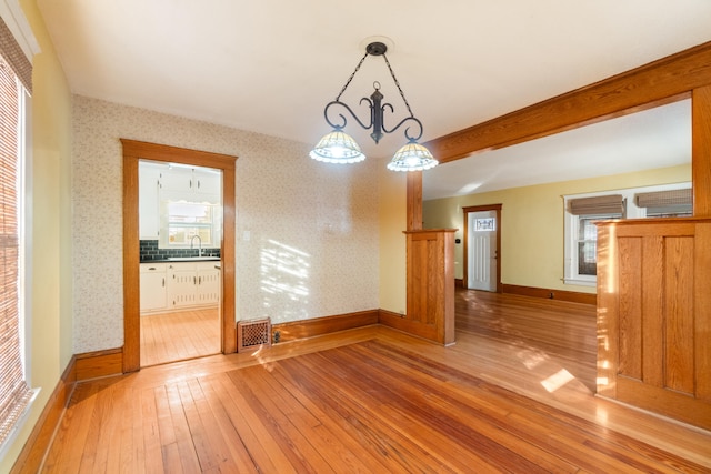
<path id="1" fill-rule="evenodd" d="M 407 175 L 381 167 L 380 184 L 380 309 L 404 314 Z"/>

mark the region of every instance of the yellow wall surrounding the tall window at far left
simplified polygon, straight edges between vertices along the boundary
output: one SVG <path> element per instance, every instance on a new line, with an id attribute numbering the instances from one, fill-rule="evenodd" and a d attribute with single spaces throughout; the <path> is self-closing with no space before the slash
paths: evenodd
<path id="1" fill-rule="evenodd" d="M 18 438 L 0 461 L 0 472 L 8 472 L 14 463 L 73 354 L 69 265 L 71 94 L 34 1 L 20 4 L 41 49 L 33 59 L 32 159 L 28 163 L 32 177 L 29 375 L 31 386 L 41 391 Z"/>

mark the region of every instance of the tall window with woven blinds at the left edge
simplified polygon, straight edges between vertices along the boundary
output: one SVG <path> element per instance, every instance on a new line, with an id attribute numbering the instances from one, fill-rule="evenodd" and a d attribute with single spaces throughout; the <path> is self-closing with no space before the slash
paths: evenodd
<path id="1" fill-rule="evenodd" d="M 22 365 L 20 314 L 23 97 L 31 65 L 0 20 L 0 445 L 10 437 L 33 392 Z M 29 74 L 28 74 L 29 71 Z"/>

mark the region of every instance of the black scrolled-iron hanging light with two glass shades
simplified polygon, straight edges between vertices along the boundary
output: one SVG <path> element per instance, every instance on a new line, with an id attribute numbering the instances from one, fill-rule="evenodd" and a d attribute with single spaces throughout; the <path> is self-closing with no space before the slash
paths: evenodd
<path id="1" fill-rule="evenodd" d="M 418 143 L 418 140 L 420 140 L 423 132 L 422 122 L 420 122 L 420 120 L 412 113 L 412 109 L 410 109 L 410 104 L 404 98 L 404 93 L 400 88 L 400 83 L 398 82 L 394 72 L 392 72 L 390 61 L 388 61 L 388 57 L 385 56 L 387 51 L 388 47 L 380 41 L 373 41 L 369 43 L 368 47 L 365 47 L 365 54 L 361 58 L 351 77 L 348 78 L 348 81 L 346 81 L 346 84 L 341 89 L 341 92 L 339 92 L 339 94 L 336 97 L 336 100 L 329 102 L 323 109 L 323 117 L 326 118 L 326 122 L 333 128 L 333 131 L 326 134 L 321 140 L 319 140 L 319 143 L 314 147 L 313 150 L 311 150 L 309 155 L 312 159 L 324 161 L 327 163 L 358 163 L 359 161 L 363 161 L 365 159 L 365 155 L 361 151 L 358 143 L 356 143 L 356 140 L 353 140 L 353 138 L 348 133 L 343 132 L 343 128 L 348 123 L 346 115 L 339 112 L 338 117 L 340 119 L 338 120 L 338 122 L 333 122 L 329 119 L 329 109 L 338 105 L 346 109 L 346 111 L 351 114 L 351 117 L 356 120 L 356 122 L 358 122 L 360 127 L 365 130 L 372 129 L 372 133 L 370 134 L 370 137 L 374 140 L 375 143 L 380 142 L 380 139 L 384 133 L 392 133 L 405 123 L 417 125 L 417 128 L 414 129 L 414 132 L 419 132 L 417 134 L 410 134 L 411 127 L 407 127 L 404 129 L 404 137 L 405 139 L 408 139 L 408 143 L 395 152 L 390 163 L 388 163 L 388 169 L 392 171 L 421 171 L 437 167 L 439 162 L 434 159 L 434 157 L 432 157 L 432 153 L 430 153 L 427 148 Z M 364 123 L 363 121 L 361 121 L 350 107 L 341 102 L 341 95 L 343 95 L 343 92 L 346 92 L 346 89 L 351 83 L 353 77 L 356 77 L 356 73 L 360 69 L 363 61 L 365 61 L 365 58 L 368 58 L 368 56 L 383 57 L 383 59 L 385 60 L 385 64 L 388 64 L 390 75 L 392 77 L 393 82 L 400 91 L 400 97 L 402 98 L 402 101 L 410 112 L 410 117 L 405 117 L 404 119 L 402 119 L 392 129 L 388 129 L 384 123 L 384 111 L 385 109 L 390 109 L 390 112 L 394 112 L 394 109 L 390 103 L 382 103 L 384 97 L 380 92 L 380 82 L 373 82 L 373 88 L 375 90 L 370 95 L 370 99 L 362 98 L 360 100 L 360 103 L 368 103 L 368 107 L 370 109 L 369 123 Z"/>

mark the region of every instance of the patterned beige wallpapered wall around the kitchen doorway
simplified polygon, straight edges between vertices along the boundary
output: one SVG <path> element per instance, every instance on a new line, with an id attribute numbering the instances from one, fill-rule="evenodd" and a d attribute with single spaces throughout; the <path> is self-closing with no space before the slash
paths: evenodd
<path id="1" fill-rule="evenodd" d="M 123 344 L 120 138 L 237 155 L 236 319 L 377 309 L 378 163 L 318 163 L 309 145 L 73 97 L 74 353 Z"/>

